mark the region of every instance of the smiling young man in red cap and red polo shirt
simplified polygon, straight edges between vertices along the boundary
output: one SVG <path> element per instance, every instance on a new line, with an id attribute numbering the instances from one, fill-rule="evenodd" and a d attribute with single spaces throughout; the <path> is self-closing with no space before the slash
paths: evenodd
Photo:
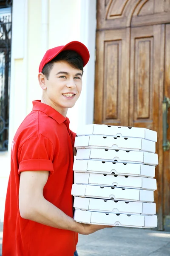
<path id="1" fill-rule="evenodd" d="M 41 101 L 18 128 L 11 148 L 3 256 L 74 256 L 78 234 L 106 226 L 73 219 L 75 135 L 66 117 L 82 90 L 88 49 L 73 41 L 49 49 L 39 67 Z"/>

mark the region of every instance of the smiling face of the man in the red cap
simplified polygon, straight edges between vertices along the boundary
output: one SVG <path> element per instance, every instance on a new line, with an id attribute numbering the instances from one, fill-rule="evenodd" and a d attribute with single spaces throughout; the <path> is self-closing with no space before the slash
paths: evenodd
<path id="1" fill-rule="evenodd" d="M 82 90 L 82 70 L 71 67 L 67 61 L 53 64 L 48 80 L 45 79 L 45 98 L 62 111 L 72 108 Z"/>

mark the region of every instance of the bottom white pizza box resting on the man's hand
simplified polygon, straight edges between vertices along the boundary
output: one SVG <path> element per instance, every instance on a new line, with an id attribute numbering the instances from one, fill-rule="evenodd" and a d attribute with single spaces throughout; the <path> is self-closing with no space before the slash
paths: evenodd
<path id="1" fill-rule="evenodd" d="M 91 212 L 75 209 L 74 220 L 88 224 L 122 227 L 157 227 L 156 215 L 126 215 L 105 212 Z"/>

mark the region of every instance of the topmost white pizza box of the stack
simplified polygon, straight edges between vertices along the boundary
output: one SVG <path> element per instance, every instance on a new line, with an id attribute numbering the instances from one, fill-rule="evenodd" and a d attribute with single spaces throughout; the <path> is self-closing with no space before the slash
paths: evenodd
<path id="1" fill-rule="evenodd" d="M 114 126 L 114 125 L 83 125 L 77 130 L 77 135 L 108 135 L 120 137 L 143 138 L 157 142 L 157 132 L 146 128 Z"/>

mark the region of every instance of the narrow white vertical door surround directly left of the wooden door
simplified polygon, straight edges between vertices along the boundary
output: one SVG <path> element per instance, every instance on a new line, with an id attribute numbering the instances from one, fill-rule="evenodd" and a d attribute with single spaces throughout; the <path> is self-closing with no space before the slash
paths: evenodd
<path id="1" fill-rule="evenodd" d="M 94 80 L 96 58 L 96 0 L 81 0 L 80 41 L 88 47 L 90 60 L 83 74 L 82 95 L 79 98 L 77 126 L 94 121 Z"/>

